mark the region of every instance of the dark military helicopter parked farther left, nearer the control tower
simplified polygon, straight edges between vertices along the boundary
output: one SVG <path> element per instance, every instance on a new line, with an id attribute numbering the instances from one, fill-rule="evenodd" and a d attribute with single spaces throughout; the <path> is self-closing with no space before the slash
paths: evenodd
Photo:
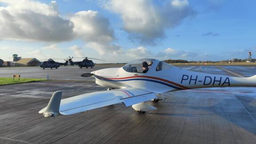
<path id="1" fill-rule="evenodd" d="M 54 60 L 62 60 L 62 59 L 54 59 Z M 61 65 L 68 65 L 68 59 L 64 59 L 66 62 L 65 63 L 59 63 L 54 61 L 53 59 L 47 59 L 47 61 L 44 61 L 43 63 L 40 64 L 41 68 L 59 68 Z"/>

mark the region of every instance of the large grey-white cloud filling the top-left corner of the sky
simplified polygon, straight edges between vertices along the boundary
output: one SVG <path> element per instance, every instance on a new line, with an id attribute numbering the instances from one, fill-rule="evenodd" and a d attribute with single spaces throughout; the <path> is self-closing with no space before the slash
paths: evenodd
<path id="1" fill-rule="evenodd" d="M 72 40 L 73 24 L 62 18 L 56 1 L 0 0 L 0 39 L 60 42 Z"/>

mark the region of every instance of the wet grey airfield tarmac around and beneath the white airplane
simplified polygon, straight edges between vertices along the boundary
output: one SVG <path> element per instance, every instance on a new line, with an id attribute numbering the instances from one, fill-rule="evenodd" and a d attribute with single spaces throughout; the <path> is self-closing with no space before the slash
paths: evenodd
<path id="1" fill-rule="evenodd" d="M 40 78 L 43 75 L 39 74 L 50 73 L 59 80 L 0 86 L 0 144 L 256 143 L 256 88 L 250 87 L 170 92 L 166 100 L 148 102 L 157 110 L 145 114 L 123 104 L 55 119 L 38 113 L 48 104 L 52 92 L 62 90 L 63 98 L 67 98 L 106 90 L 80 77 L 82 73 L 106 67 L 61 67 L 52 71 L 15 68 L 21 76 Z M 255 66 L 178 67 L 229 76 L 256 74 Z M 9 72 L 12 70 L 0 68 L 0 77 L 12 75 Z M 65 80 L 67 77 L 75 80 Z"/>

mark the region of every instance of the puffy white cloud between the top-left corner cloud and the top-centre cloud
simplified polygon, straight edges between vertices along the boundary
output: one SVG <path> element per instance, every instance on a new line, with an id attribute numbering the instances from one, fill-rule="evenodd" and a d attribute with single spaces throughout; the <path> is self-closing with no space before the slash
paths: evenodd
<path id="1" fill-rule="evenodd" d="M 87 42 L 86 48 L 95 49 L 100 55 L 111 53 L 117 55 L 122 52 L 120 46 L 111 44 L 115 40 L 114 31 L 110 28 L 108 19 L 99 15 L 97 11 L 81 11 L 72 15 L 76 36 Z"/>

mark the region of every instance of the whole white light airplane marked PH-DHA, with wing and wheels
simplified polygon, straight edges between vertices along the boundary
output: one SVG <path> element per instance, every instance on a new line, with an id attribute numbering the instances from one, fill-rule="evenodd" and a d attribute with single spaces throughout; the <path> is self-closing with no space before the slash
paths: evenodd
<path id="1" fill-rule="evenodd" d="M 152 62 L 151 66 L 148 63 Z M 147 63 L 147 64 L 146 64 Z M 106 91 L 85 93 L 61 100 L 62 91 L 54 92 L 44 117 L 71 115 L 112 104 L 123 103 L 140 113 L 156 110 L 148 100 L 164 100 L 165 92 L 192 88 L 256 87 L 256 75 L 246 78 L 192 72 L 155 59 L 134 60 L 121 68 L 105 68 L 81 76 L 93 76 Z"/>

